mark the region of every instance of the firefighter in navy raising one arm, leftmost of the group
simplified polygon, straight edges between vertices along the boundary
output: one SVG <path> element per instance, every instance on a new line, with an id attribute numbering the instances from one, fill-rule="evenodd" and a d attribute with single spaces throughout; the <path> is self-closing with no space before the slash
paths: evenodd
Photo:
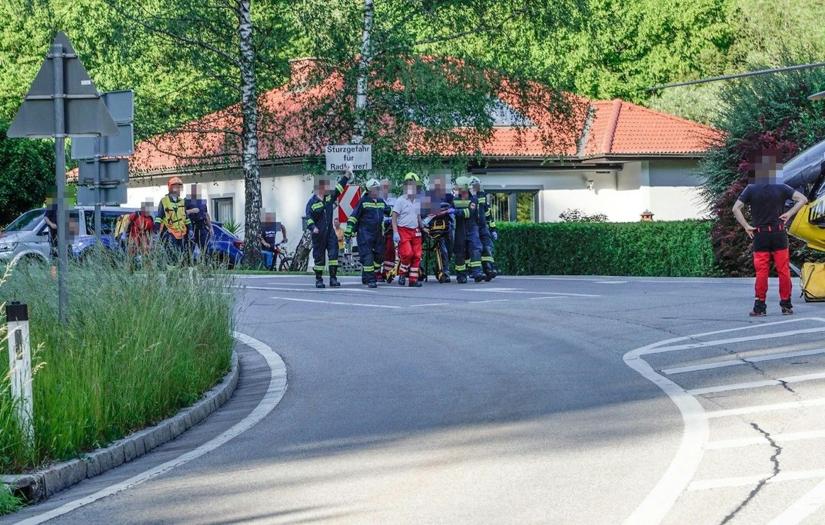
<path id="1" fill-rule="evenodd" d="M 315 194 L 307 202 L 307 227 L 312 230 L 312 255 L 314 258 L 315 288 L 326 288 L 323 284 L 324 255 L 329 257 L 329 286 L 341 286 L 338 282 L 338 237 L 332 229 L 332 216 L 335 212 L 338 195 L 350 180 L 352 171 L 349 167 L 344 176 L 332 188 L 332 180 L 318 177 L 315 180 Z M 325 254 L 326 252 L 326 254 Z"/>

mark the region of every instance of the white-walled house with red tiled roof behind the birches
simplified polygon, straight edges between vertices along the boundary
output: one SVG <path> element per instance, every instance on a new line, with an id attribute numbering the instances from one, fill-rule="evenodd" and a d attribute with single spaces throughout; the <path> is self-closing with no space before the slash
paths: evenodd
<path id="1" fill-rule="evenodd" d="M 299 237 L 296 232 L 313 188 L 304 158 L 323 151 L 324 145 L 317 134 L 313 139 L 284 135 L 299 129 L 299 110 L 314 95 L 315 88 L 303 83 L 309 66 L 307 59 L 293 61 L 292 80 L 260 99 L 269 118 L 287 123 L 281 126 L 281 134 L 260 138 L 263 205 L 276 210 L 293 239 Z M 326 82 L 334 87 L 340 80 L 332 75 Z M 696 168 L 709 146 L 719 140 L 718 130 L 619 99 L 575 98 L 582 110 L 570 117 L 573 125 L 555 141 L 559 152 L 554 153 L 542 140 L 546 129 L 541 123 L 552 118 L 547 111 L 522 114 L 500 101 L 492 115 L 493 133 L 479 148 L 480 162 L 467 166 L 492 195 L 497 220 L 557 221 L 566 209 L 604 213 L 616 222 L 638 221 L 648 210 L 655 220 L 705 215 Z M 290 120 L 295 122 L 290 125 Z M 130 158 L 129 204 L 157 202 L 166 193 L 167 178 L 175 175 L 186 185 L 200 184 L 214 220 L 243 222 L 239 164 L 237 160 L 214 162 L 234 139 L 220 130 L 240 129 L 237 108 L 206 115 L 189 126 L 137 145 Z"/>

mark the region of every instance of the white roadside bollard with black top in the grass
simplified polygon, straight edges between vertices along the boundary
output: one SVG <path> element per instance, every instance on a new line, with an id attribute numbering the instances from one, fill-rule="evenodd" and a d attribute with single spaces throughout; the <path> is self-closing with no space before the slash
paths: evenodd
<path id="1" fill-rule="evenodd" d="M 8 338 L 8 368 L 12 383 L 12 399 L 16 402 L 17 421 L 21 434 L 29 445 L 34 444 L 35 429 L 31 424 L 31 349 L 29 346 L 29 308 L 13 301 L 6 305 Z"/>

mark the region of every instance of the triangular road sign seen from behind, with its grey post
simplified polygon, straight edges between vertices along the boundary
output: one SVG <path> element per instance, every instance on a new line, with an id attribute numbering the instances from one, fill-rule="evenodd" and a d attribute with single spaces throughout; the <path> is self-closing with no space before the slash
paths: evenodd
<path id="1" fill-rule="evenodd" d="M 66 137 L 99 137 L 118 134 L 106 105 L 101 101 L 86 68 L 64 33 L 54 37 L 49 54 L 40 66 L 34 82 L 17 115 L 9 126 L 7 136 L 54 137 L 54 181 L 57 186 L 58 225 L 58 312 L 66 321 L 68 297 L 68 242 L 66 210 Z"/>

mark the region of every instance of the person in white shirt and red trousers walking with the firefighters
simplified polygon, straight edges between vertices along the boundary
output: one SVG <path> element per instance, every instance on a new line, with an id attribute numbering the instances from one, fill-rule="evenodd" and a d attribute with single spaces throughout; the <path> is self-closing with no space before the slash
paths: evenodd
<path id="1" fill-rule="evenodd" d="M 393 241 L 398 244 L 401 265 L 398 266 L 398 285 L 420 287 L 418 280 L 421 265 L 422 232 L 427 233 L 421 220 L 421 202 L 417 200 L 421 177 L 416 173 L 404 176 L 404 195 L 395 200 L 393 207 Z"/>

